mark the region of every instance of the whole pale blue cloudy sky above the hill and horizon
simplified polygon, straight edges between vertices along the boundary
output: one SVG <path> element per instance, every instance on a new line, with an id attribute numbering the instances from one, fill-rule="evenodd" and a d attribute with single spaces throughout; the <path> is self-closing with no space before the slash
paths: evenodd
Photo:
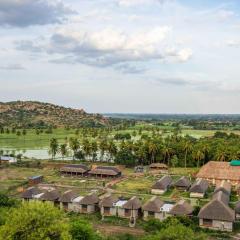
<path id="1" fill-rule="evenodd" d="M 240 113 L 239 0 L 0 0 L 0 101 Z"/>

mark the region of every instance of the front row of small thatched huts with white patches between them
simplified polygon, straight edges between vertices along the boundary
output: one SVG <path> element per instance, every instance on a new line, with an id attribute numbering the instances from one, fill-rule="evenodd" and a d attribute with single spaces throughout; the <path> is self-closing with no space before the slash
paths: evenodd
<path id="1" fill-rule="evenodd" d="M 149 218 L 164 220 L 169 216 L 191 215 L 193 211 L 193 207 L 185 200 L 180 200 L 175 204 L 165 203 L 154 196 L 142 204 L 136 196 L 130 199 L 118 198 L 110 194 L 99 197 L 94 192 L 86 196 L 79 196 L 73 190 L 67 190 L 61 194 L 55 188 L 40 189 L 37 186 L 26 189 L 22 193 L 22 198 L 25 201 L 51 202 L 61 209 L 77 213 L 91 214 L 99 211 L 103 218 L 108 216 L 128 218 L 133 226 L 140 217 L 145 220 Z"/>

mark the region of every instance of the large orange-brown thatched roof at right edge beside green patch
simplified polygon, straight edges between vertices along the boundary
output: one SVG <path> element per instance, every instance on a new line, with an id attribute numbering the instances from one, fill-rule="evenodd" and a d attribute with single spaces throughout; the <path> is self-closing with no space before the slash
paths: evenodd
<path id="1" fill-rule="evenodd" d="M 229 162 L 210 161 L 197 174 L 198 178 L 240 181 L 240 166 L 231 166 Z"/>

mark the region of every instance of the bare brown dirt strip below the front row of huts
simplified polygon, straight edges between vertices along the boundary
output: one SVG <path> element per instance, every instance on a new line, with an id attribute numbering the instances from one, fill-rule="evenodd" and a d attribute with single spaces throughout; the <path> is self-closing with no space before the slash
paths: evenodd
<path id="1" fill-rule="evenodd" d="M 128 233 L 134 236 L 142 236 L 145 234 L 145 231 L 139 228 L 113 226 L 113 225 L 106 225 L 106 224 L 95 225 L 94 227 L 96 230 L 106 235 L 119 235 L 119 234 Z"/>

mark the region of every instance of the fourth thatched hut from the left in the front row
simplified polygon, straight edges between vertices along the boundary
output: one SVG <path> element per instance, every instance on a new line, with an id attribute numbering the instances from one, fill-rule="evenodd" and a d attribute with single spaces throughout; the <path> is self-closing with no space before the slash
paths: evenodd
<path id="1" fill-rule="evenodd" d="M 80 213 L 94 213 L 98 210 L 99 198 L 96 193 L 90 193 L 79 201 Z"/>

